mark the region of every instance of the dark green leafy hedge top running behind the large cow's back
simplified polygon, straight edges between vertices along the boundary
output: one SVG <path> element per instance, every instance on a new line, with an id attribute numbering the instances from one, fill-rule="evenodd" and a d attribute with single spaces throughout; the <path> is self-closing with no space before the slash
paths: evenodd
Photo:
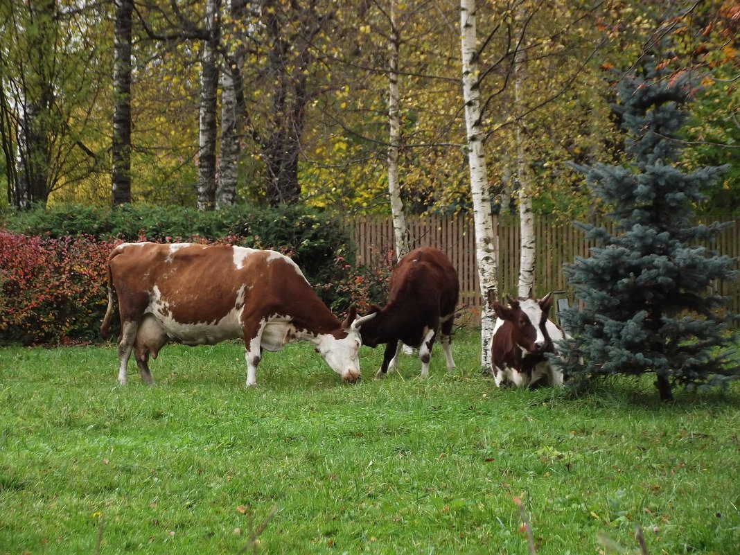
<path id="1" fill-rule="evenodd" d="M 0 222 L 12 232 L 47 238 L 93 235 L 102 240 L 222 240 L 290 255 L 310 283 L 335 279 L 334 258 L 354 263 L 354 248 L 343 223 L 306 206 L 235 206 L 198 212 L 184 206 L 124 205 L 96 209 L 61 204 L 28 212 L 7 211 Z M 332 295 L 323 300 L 333 302 Z"/>

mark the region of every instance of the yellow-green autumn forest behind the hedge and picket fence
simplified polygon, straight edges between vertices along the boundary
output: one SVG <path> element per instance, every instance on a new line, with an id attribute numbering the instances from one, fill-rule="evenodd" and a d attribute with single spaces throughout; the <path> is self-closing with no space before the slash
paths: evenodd
<path id="1" fill-rule="evenodd" d="M 7 0 L 0 12 L 2 206 L 388 212 L 395 84 L 406 211 L 471 209 L 459 4 Z M 477 21 L 494 212 L 516 209 L 524 181 L 536 213 L 602 210 L 569 163 L 621 159 L 614 84 L 647 51 L 696 73 L 681 163 L 730 164 L 697 210 L 740 210 L 737 1 L 488 1 Z"/>

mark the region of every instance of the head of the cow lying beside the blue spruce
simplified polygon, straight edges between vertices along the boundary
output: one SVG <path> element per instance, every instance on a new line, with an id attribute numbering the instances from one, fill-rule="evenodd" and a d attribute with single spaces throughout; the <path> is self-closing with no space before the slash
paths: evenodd
<path id="1" fill-rule="evenodd" d="M 542 299 L 512 300 L 507 297 L 509 306 L 494 303 L 494 312 L 502 320 L 514 326 L 514 339 L 517 344 L 530 353 L 540 354 L 553 350 L 553 342 L 545 323 L 552 305 L 552 295 Z"/>

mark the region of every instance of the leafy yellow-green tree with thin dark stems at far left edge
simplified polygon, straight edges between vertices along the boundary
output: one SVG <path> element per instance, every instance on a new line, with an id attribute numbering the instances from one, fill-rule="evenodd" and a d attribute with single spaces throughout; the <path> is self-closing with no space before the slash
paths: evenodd
<path id="1" fill-rule="evenodd" d="M 84 2 L 0 2 L 0 134 L 15 206 L 44 204 L 104 165 L 110 142 L 98 139 L 105 131 L 92 115 L 110 78 L 101 73 L 103 18 Z"/>

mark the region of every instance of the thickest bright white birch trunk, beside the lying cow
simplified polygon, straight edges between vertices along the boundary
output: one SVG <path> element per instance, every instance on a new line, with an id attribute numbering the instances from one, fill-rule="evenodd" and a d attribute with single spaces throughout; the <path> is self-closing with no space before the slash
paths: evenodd
<path id="1" fill-rule="evenodd" d="M 468 164 L 473 200 L 476 261 L 480 294 L 483 300 L 480 318 L 481 364 L 484 368 L 488 368 L 491 358 L 488 345 L 496 322 L 493 303 L 498 297 L 498 268 L 491 198 L 488 192 L 488 172 L 485 167 L 485 152 L 482 144 L 475 16 L 475 0 L 460 0 L 462 96 L 465 101 L 465 127 L 468 132 Z"/>

